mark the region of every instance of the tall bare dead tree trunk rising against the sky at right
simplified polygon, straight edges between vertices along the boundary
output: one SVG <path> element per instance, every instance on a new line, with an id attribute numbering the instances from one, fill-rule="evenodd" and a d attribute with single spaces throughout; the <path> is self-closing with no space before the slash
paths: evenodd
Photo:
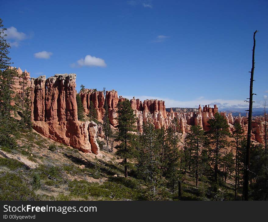
<path id="1" fill-rule="evenodd" d="M 249 200 L 249 155 L 250 155 L 250 139 L 251 139 L 251 120 L 252 120 L 252 105 L 253 105 L 253 75 L 254 75 L 254 68 L 255 68 L 255 35 L 258 31 L 256 30 L 253 35 L 253 50 L 252 50 L 252 68 L 251 68 L 251 75 L 250 75 L 250 86 L 249 86 L 249 121 L 248 121 L 248 134 L 247 134 L 247 147 L 246 147 L 246 162 L 245 162 L 245 180 L 243 185 L 244 191 L 244 200 Z M 256 94 L 255 94 L 256 95 Z M 248 101 L 247 101 L 248 102 Z"/>

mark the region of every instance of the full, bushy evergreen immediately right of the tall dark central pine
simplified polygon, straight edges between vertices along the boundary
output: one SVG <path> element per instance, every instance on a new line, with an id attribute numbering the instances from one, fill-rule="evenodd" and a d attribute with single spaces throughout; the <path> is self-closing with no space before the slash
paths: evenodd
<path id="1" fill-rule="evenodd" d="M 138 175 L 150 188 L 149 194 L 153 198 L 157 196 L 157 191 L 161 181 L 161 141 L 158 140 L 158 131 L 153 123 L 149 121 L 143 124 L 143 134 L 139 138 L 138 153 Z"/>

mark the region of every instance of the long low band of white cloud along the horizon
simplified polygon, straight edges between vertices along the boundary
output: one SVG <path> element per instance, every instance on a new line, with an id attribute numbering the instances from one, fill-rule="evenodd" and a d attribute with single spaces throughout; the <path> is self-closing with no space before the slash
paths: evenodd
<path id="1" fill-rule="evenodd" d="M 133 96 L 123 96 L 127 99 L 132 99 Z M 158 99 L 158 100 L 164 100 L 166 108 L 170 107 L 182 107 L 182 108 L 194 108 L 198 107 L 199 104 L 203 107 L 203 105 L 210 105 L 213 107 L 214 104 L 217 105 L 219 109 L 226 109 L 226 108 L 248 108 L 249 104 L 244 102 L 244 100 L 239 99 L 205 99 L 204 97 L 200 97 L 194 100 L 190 101 L 180 101 L 175 99 L 169 99 L 169 98 L 161 98 L 161 97 L 155 97 L 155 96 L 135 96 L 136 99 L 145 100 L 145 99 Z M 254 107 L 262 107 L 262 101 L 256 101 L 254 103 Z"/>

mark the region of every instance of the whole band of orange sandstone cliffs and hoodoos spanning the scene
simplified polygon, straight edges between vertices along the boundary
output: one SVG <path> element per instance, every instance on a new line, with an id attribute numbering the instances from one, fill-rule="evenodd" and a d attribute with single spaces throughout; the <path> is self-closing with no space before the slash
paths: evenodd
<path id="1" fill-rule="evenodd" d="M 21 69 L 17 69 L 19 74 Z M 91 121 L 81 122 L 77 118 L 77 103 L 76 103 L 76 75 L 75 74 L 56 74 L 53 77 L 46 79 L 45 76 L 31 78 L 27 72 L 27 86 L 31 88 L 31 120 L 33 129 L 51 138 L 52 140 L 72 146 L 83 152 L 99 153 L 99 145 L 96 141 L 97 132 L 101 132 L 101 125 Z M 15 92 L 21 93 L 19 78 L 15 80 Z M 102 122 L 105 109 L 104 104 L 108 106 L 108 116 L 110 124 L 113 127 L 117 125 L 117 104 L 124 101 L 122 96 L 118 97 L 115 90 L 106 91 L 106 96 L 102 91 L 92 89 L 84 89 L 79 92 L 80 99 L 83 104 L 84 112 L 89 113 L 90 102 L 93 103 L 93 108 L 97 111 L 98 121 Z M 130 100 L 133 113 L 137 121 L 136 126 L 139 132 L 142 132 L 143 123 L 150 121 L 157 129 L 168 128 L 171 121 L 176 118 L 180 126 L 180 132 L 185 134 L 189 132 L 192 125 L 199 125 L 202 129 L 208 130 L 208 120 L 214 118 L 218 112 L 216 105 L 199 105 L 198 111 L 170 112 L 166 111 L 165 102 L 157 99 L 146 99 L 143 102 L 139 99 Z M 220 113 L 227 120 L 230 126 L 230 131 L 233 131 L 234 123 L 239 123 L 247 132 L 248 120 L 247 116 L 233 117 L 232 113 Z M 267 116 L 268 117 L 268 116 Z M 266 117 L 266 119 L 267 119 Z M 252 139 L 263 143 L 264 142 L 264 117 L 254 117 L 252 123 Z"/>

